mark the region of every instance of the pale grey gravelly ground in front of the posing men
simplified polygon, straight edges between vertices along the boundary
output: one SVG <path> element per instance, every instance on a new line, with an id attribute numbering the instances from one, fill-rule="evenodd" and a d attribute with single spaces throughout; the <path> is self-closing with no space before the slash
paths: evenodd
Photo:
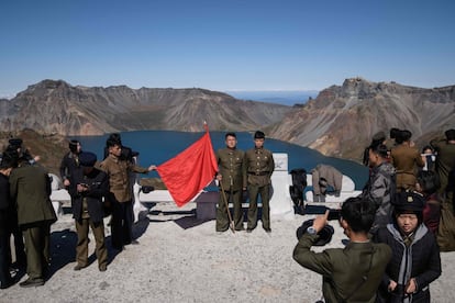
<path id="1" fill-rule="evenodd" d="M 270 235 L 260 226 L 252 234 L 218 235 L 214 221 L 198 221 L 193 206 L 160 203 L 144 213 L 134 226 L 140 245 L 116 255 L 110 250 L 106 272 L 98 271 L 95 257 L 88 268 L 73 270 L 76 233 L 65 214 L 53 225 L 46 284 L 15 284 L 0 291 L 0 302 L 315 302 L 321 296 L 321 277 L 292 259 L 296 228 L 311 216 L 273 221 Z M 332 223 L 335 235 L 328 247 L 341 247 L 344 235 Z M 431 284 L 432 302 L 453 302 L 455 252 L 443 252 L 442 259 L 443 274 Z"/>

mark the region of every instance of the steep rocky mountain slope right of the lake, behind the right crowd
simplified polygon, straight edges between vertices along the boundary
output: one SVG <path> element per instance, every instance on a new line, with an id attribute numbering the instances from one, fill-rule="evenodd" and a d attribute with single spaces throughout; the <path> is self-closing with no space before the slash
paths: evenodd
<path id="1" fill-rule="evenodd" d="M 273 137 L 360 160 L 371 136 L 391 127 L 410 130 L 418 145 L 455 127 L 455 86 L 422 89 L 395 82 L 346 79 L 332 86 L 268 130 Z"/>

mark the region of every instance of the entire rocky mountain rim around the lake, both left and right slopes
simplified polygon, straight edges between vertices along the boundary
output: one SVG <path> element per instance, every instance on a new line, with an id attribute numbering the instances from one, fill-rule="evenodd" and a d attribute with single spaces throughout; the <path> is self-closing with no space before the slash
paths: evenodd
<path id="1" fill-rule="evenodd" d="M 455 127 L 455 86 L 423 89 L 396 82 L 346 79 L 306 104 L 243 101 L 203 89 L 73 87 L 44 80 L 0 100 L 4 132 L 97 135 L 136 130 L 264 130 L 267 136 L 360 161 L 371 136 L 391 127 L 413 133 L 419 146 Z"/>

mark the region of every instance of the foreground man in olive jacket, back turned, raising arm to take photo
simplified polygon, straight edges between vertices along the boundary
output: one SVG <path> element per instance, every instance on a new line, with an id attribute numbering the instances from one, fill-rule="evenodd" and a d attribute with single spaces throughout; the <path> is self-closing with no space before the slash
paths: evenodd
<path id="1" fill-rule="evenodd" d="M 349 243 L 344 248 L 314 252 L 311 247 L 328 224 L 329 211 L 314 218 L 296 248 L 293 259 L 304 268 L 322 274 L 322 292 L 330 302 L 375 302 L 391 249 L 368 238 L 376 206 L 362 198 L 347 199 L 341 209 L 340 225 Z"/>

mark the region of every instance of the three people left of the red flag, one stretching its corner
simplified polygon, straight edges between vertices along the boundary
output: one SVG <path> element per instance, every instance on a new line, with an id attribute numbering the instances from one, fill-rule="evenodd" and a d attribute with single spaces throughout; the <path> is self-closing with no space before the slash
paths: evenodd
<path id="1" fill-rule="evenodd" d="M 98 268 L 106 271 L 108 250 L 104 243 L 106 215 L 111 214 L 111 246 L 123 250 L 125 245 L 138 244 L 133 238 L 133 193 L 131 173 L 147 173 L 156 167 L 135 165 L 135 153 L 123 146 L 119 134 L 111 134 L 106 142 L 104 159 L 97 164 L 97 156 L 82 152 L 80 143 L 71 141 L 69 152 L 62 160 L 60 175 L 71 197 L 73 215 L 77 231 L 75 270 L 88 266 L 88 232 L 96 240 Z"/>

